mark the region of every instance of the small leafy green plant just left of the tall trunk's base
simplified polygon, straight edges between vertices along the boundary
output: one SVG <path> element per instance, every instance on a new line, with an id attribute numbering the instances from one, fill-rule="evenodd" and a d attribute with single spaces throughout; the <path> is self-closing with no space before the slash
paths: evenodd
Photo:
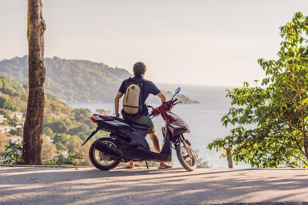
<path id="1" fill-rule="evenodd" d="M 3 164 L 21 164 L 23 153 L 22 143 L 11 143 L 5 148 L 5 151 L 8 152 L 3 158 Z"/>

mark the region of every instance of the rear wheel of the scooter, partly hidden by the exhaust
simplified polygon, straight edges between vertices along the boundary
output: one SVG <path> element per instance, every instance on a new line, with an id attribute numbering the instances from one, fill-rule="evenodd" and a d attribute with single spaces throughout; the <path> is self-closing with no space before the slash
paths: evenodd
<path id="1" fill-rule="evenodd" d="M 110 146 L 119 146 L 117 141 L 109 137 L 99 138 L 98 140 Z M 94 143 L 90 147 L 89 157 L 92 165 L 100 170 L 111 170 L 120 164 L 120 162 L 116 161 L 111 155 L 95 149 Z"/>

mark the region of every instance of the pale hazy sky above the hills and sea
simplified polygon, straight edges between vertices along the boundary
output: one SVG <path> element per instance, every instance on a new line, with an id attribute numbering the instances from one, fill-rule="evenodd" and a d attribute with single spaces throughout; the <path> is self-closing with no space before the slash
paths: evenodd
<path id="1" fill-rule="evenodd" d="M 102 62 L 154 83 L 254 85 L 308 0 L 42 0 L 45 58 Z M 0 60 L 28 55 L 27 0 L 0 1 Z M 94 77 L 94 76 L 93 76 Z"/>

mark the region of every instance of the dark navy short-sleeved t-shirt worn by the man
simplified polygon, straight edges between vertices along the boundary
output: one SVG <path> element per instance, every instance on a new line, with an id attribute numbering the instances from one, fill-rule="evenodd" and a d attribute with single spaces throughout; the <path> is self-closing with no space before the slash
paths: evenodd
<path id="1" fill-rule="evenodd" d="M 142 76 L 135 76 L 135 78 L 143 78 L 143 77 Z M 129 79 L 124 80 L 120 89 L 119 89 L 119 92 L 122 92 L 124 94 L 128 84 L 129 84 Z M 142 111 L 141 115 L 143 115 L 143 116 L 149 115 L 148 108 L 145 105 L 145 102 L 146 102 L 147 98 L 149 97 L 149 94 L 157 95 L 159 92 L 160 92 L 160 90 L 155 86 L 155 84 L 152 81 L 147 80 L 147 83 L 145 83 L 142 87 L 143 111 Z"/>

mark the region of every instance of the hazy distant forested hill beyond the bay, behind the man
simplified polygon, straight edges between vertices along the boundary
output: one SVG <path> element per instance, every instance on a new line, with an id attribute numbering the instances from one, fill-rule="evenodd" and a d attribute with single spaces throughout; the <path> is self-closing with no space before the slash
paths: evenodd
<path id="1" fill-rule="evenodd" d="M 112 68 L 89 60 L 44 59 L 45 91 L 64 102 L 114 102 L 122 83 L 133 76 L 125 69 Z M 28 56 L 0 61 L 0 72 L 28 87 Z M 168 97 L 172 93 L 164 92 Z M 184 103 L 196 103 L 183 95 Z M 151 101 L 151 97 L 150 97 Z"/>

